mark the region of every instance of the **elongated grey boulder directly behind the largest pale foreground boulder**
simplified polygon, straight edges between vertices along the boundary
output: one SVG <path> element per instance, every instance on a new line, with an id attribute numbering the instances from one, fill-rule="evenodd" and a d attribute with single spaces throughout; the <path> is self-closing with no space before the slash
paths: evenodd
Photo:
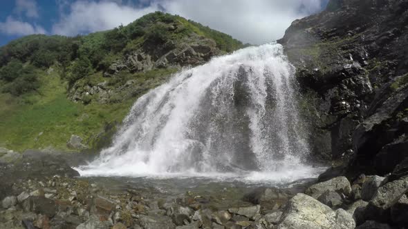
<path id="1" fill-rule="evenodd" d="M 351 194 L 351 185 L 346 177 L 335 177 L 310 186 L 306 189 L 306 195 L 317 199 L 326 191 L 341 192 L 348 196 Z"/>

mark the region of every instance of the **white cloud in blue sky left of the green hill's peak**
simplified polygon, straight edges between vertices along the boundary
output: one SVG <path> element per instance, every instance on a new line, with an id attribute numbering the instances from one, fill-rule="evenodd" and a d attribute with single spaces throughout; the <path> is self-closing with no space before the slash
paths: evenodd
<path id="1" fill-rule="evenodd" d="M 158 10 L 156 6 L 138 8 L 121 5 L 116 1 L 76 1 L 68 14 L 62 14 L 58 23 L 53 25 L 53 33 L 77 35 L 99 30 L 109 30 L 127 25 L 143 15 Z"/>

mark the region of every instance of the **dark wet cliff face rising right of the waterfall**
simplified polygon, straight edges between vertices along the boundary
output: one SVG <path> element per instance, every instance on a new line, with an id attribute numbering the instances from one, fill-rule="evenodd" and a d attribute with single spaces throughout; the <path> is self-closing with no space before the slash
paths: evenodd
<path id="1" fill-rule="evenodd" d="M 297 67 L 319 157 L 380 175 L 407 164 L 408 1 L 332 0 L 279 43 Z"/>

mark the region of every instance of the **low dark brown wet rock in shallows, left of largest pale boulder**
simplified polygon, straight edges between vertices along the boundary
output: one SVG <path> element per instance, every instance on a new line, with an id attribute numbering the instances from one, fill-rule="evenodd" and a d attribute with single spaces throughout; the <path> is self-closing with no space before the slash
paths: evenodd
<path id="1" fill-rule="evenodd" d="M 244 196 L 244 200 L 254 204 L 260 204 L 263 208 L 278 209 L 283 206 L 288 199 L 289 194 L 279 188 L 256 188 Z"/>

